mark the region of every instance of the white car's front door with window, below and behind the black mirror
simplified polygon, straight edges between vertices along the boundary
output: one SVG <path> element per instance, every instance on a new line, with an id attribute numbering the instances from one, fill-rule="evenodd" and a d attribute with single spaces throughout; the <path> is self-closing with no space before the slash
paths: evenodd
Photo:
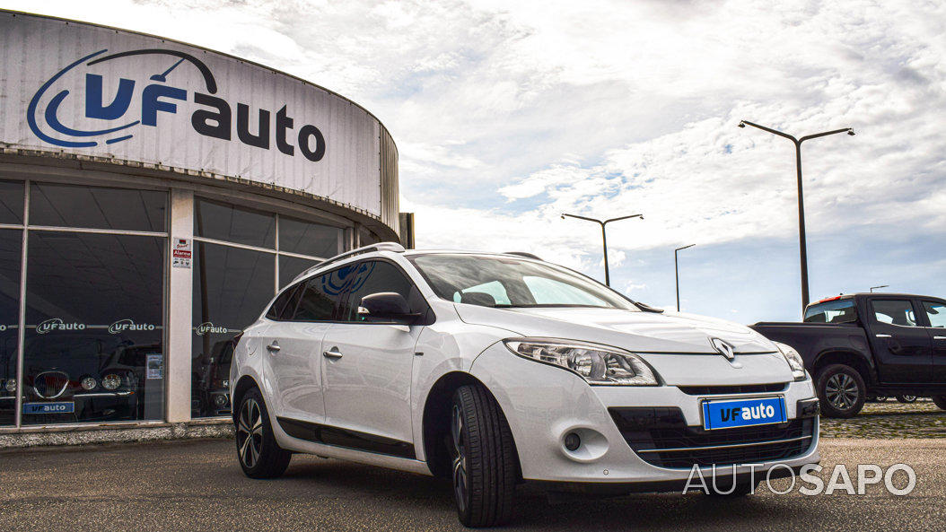
<path id="1" fill-rule="evenodd" d="M 345 447 L 413 457 L 412 366 L 423 326 L 366 321 L 358 307 L 361 298 L 378 292 L 401 294 L 414 305 L 426 303 L 417 302 L 411 281 L 386 261 L 360 263 L 349 285 L 340 322 L 323 343 L 325 424 L 330 427 L 325 437 Z"/>

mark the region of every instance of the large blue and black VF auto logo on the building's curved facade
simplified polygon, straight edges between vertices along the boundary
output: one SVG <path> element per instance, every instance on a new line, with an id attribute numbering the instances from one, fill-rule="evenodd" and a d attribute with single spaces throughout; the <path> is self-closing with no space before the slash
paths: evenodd
<path id="1" fill-rule="evenodd" d="M 180 77 L 185 72 L 196 71 L 202 78 L 206 93 L 194 91 L 190 94 L 190 101 L 198 108 L 190 115 L 191 126 L 201 135 L 232 140 L 233 108 L 223 98 L 213 95 L 218 91 L 217 80 L 201 60 L 176 50 L 142 49 L 103 55 L 107 51 L 99 50 L 72 62 L 50 77 L 33 95 L 26 110 L 26 122 L 37 137 L 51 145 L 63 147 L 92 147 L 102 142 L 113 145 L 127 141 L 134 136 L 137 128 L 159 127 L 159 113 L 178 112 L 178 102 L 186 102 L 188 94 L 186 90 L 175 87 L 168 77 L 172 74 Z M 138 60 L 147 61 L 147 65 L 153 64 L 155 74 L 148 79 L 135 79 L 134 76 L 118 76 L 117 79 L 106 77 L 109 73 L 120 72 L 122 67 L 140 68 L 140 63 L 134 64 L 126 59 L 135 56 L 143 56 Z M 186 65 L 179 69 L 184 63 Z M 77 79 L 82 73 L 85 74 L 84 80 Z M 84 94 L 71 94 L 65 88 L 74 88 L 77 84 L 82 86 L 83 83 Z M 63 106 L 67 98 L 76 101 L 69 101 Z M 133 102 L 139 105 L 132 106 Z M 131 112 L 139 108 L 140 116 Z M 63 124 L 60 120 L 61 109 L 70 109 L 74 115 L 77 114 L 76 110 L 81 111 L 81 121 L 85 126 Z M 307 160 L 322 160 L 325 154 L 322 131 L 306 124 L 298 129 L 295 139 L 292 139 L 295 121 L 289 116 L 287 106 L 283 105 L 275 113 L 274 120 L 271 120 L 271 116 L 272 112 L 259 109 L 256 112 L 256 124 L 252 128 L 254 131 L 251 131 L 250 106 L 236 103 L 236 138 L 246 146 L 262 149 L 270 149 L 271 144 L 275 144 L 276 149 L 288 156 L 295 156 L 298 147 Z M 101 127 L 97 127 L 98 124 Z M 292 140 L 296 143 L 293 144 Z"/>

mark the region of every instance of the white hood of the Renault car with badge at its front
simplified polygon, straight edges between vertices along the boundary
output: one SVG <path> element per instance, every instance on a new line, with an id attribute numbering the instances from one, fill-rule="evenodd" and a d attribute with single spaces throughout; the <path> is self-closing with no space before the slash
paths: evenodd
<path id="1" fill-rule="evenodd" d="M 786 383 L 792 370 L 775 344 L 744 325 L 677 313 L 603 308 L 491 308 L 456 303 L 466 323 L 523 336 L 584 340 L 638 352 L 668 385 Z M 730 362 L 710 344 L 734 348 Z"/>

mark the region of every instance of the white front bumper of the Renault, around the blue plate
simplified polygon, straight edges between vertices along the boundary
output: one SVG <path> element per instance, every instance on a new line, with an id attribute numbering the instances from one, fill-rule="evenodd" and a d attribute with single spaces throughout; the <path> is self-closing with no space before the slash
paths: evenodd
<path id="1" fill-rule="evenodd" d="M 754 471 L 759 478 L 776 464 L 797 469 L 820 460 L 817 417 L 798 412 L 799 401 L 815 397 L 810 380 L 760 388 L 778 391 L 723 394 L 690 386 L 588 386 L 569 371 L 513 355 L 501 342 L 482 352 L 470 372 L 493 392 L 509 421 L 526 480 L 675 486 L 690 477 L 694 464 L 705 476 L 715 464 L 727 478 L 733 465 L 746 464 L 736 467 L 736 473 Z M 711 433 L 702 429 L 700 403 L 705 398 L 776 395 L 785 399 L 786 423 Z M 640 412 L 646 419 L 650 409 L 654 426 L 646 420 L 634 426 L 624 419 L 624 414 Z M 671 415 L 658 420 L 658 413 Z M 575 451 L 565 446 L 570 433 L 582 440 Z"/>

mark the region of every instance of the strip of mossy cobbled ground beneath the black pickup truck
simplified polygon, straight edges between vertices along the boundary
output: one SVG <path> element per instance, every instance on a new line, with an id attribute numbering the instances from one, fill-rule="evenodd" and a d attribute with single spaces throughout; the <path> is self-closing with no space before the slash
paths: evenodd
<path id="1" fill-rule="evenodd" d="M 946 438 L 946 410 L 929 399 L 867 403 L 850 420 L 821 418 L 821 438 Z"/>

